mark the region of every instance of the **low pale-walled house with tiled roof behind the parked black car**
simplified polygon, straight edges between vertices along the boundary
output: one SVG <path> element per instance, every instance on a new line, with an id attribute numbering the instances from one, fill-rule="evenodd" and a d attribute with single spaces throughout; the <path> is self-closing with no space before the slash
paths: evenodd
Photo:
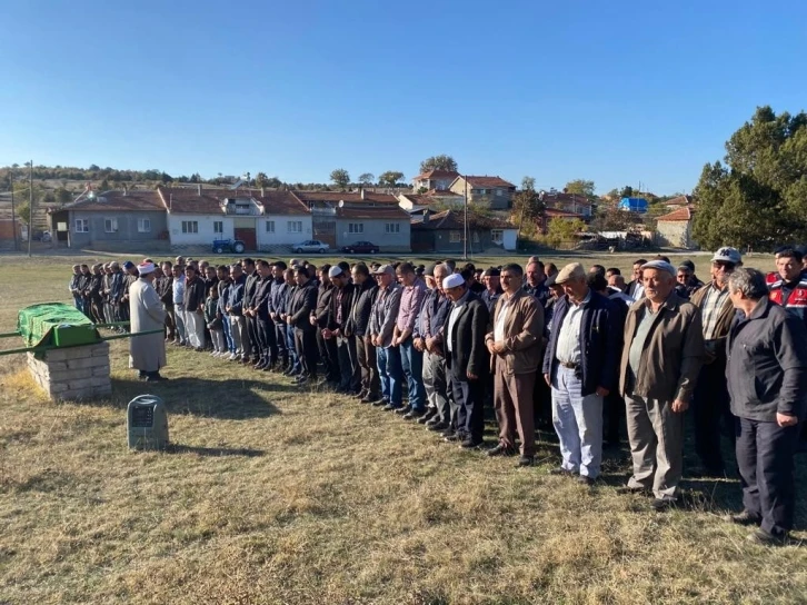
<path id="1" fill-rule="evenodd" d="M 363 189 L 343 191 L 293 191 L 311 212 L 312 239 L 339 249 L 370 241 L 383 252 L 410 250 L 409 214 L 389 194 Z"/>

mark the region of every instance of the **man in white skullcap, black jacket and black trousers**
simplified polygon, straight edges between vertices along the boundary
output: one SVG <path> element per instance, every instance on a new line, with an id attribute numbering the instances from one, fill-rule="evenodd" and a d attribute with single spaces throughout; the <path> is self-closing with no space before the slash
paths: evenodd
<path id="1" fill-rule="evenodd" d="M 451 300 L 444 325 L 448 388 L 454 395 L 457 432 L 448 442 L 460 442 L 465 448 L 482 445 L 485 385 L 490 358 L 485 335 L 490 315 L 485 302 L 466 285 L 459 274 L 448 276 L 442 288 Z"/>

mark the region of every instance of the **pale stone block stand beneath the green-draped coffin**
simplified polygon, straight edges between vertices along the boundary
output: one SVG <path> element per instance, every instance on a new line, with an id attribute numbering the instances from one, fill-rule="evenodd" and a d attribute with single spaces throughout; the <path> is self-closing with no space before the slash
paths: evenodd
<path id="1" fill-rule="evenodd" d="M 28 370 L 51 400 L 109 396 L 109 343 L 28 353 Z"/>

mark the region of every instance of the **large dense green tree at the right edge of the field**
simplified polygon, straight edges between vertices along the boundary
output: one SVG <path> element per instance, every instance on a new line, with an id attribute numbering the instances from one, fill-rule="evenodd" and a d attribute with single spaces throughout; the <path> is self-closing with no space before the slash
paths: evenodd
<path id="1" fill-rule="evenodd" d="M 807 113 L 758 107 L 724 161 L 707 163 L 694 191 L 698 244 L 769 250 L 807 238 Z"/>

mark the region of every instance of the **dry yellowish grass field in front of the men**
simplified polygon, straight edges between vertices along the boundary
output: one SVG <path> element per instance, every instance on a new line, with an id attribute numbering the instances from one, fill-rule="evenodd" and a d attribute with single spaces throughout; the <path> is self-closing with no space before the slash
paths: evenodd
<path id="1" fill-rule="evenodd" d="M 67 300 L 71 262 L 0 256 L 0 331 Z M 740 506 L 735 477 L 688 479 L 693 506 L 658 514 L 617 494 L 625 447 L 588 489 L 548 475 L 549 434 L 540 464 L 516 469 L 206 354 L 170 348 L 171 380 L 146 388 L 127 343 L 111 350 L 114 395 L 93 403 L 49 403 L 23 358 L 0 358 L 0 603 L 807 602 L 807 549 L 751 545 L 720 519 Z M 126 405 L 145 391 L 168 404 L 170 452 L 127 450 Z"/>

